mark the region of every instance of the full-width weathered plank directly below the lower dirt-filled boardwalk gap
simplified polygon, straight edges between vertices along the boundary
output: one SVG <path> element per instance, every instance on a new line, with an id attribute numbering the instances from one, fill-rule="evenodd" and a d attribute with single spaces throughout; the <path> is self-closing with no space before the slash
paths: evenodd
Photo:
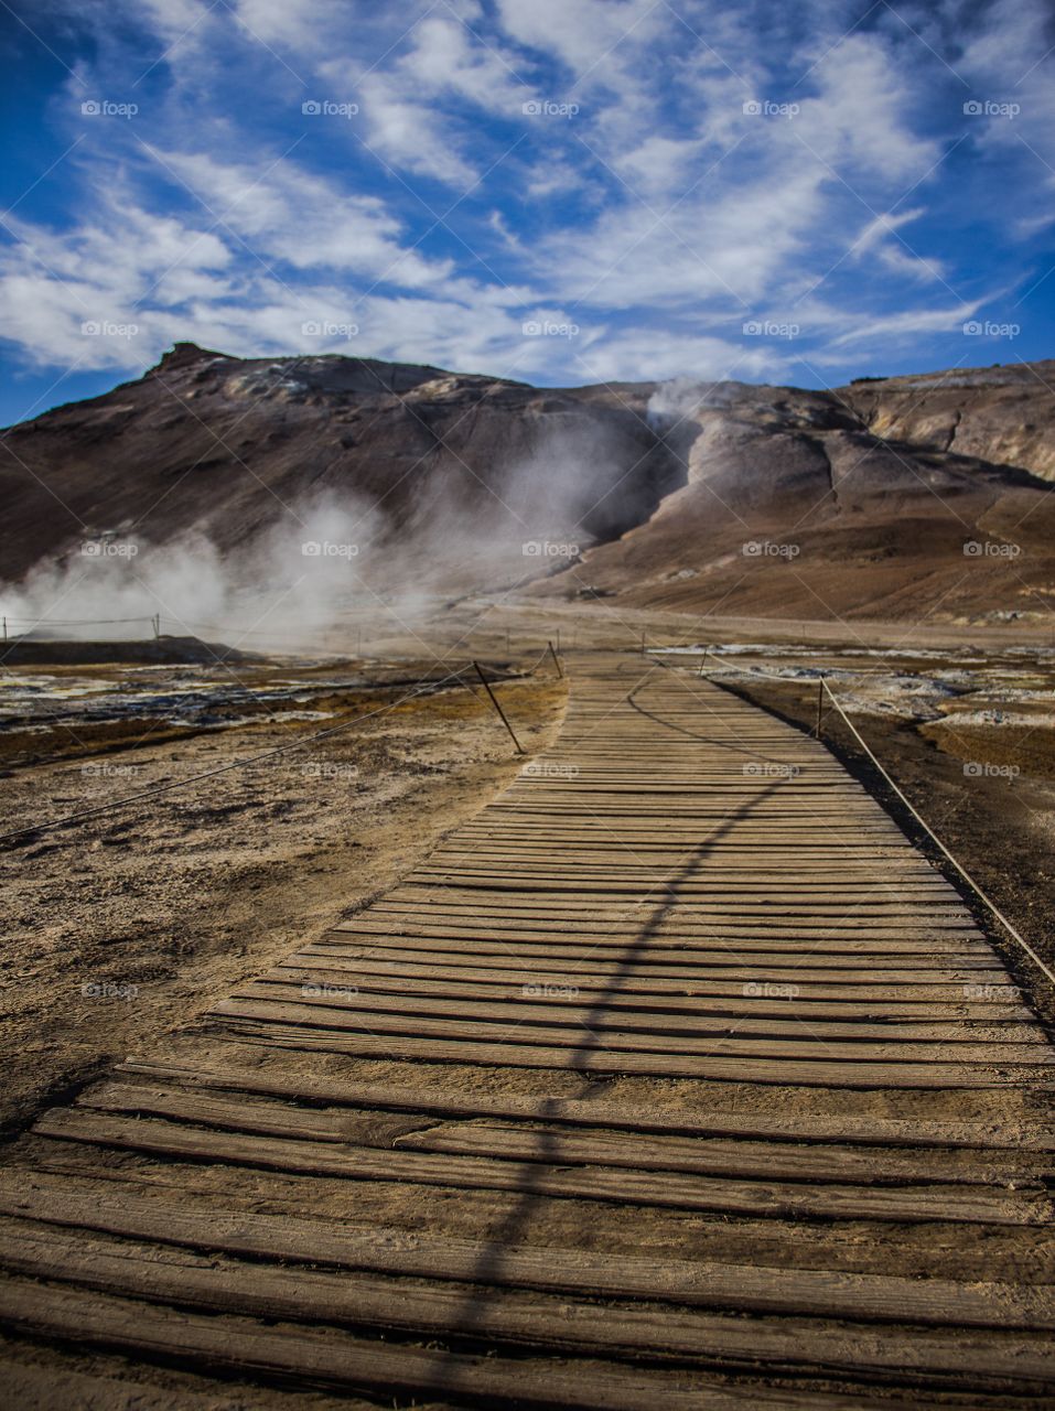
<path id="1" fill-rule="evenodd" d="M 921 1326 L 1055 1331 L 1049 1285 L 973 1280 L 898 1278 L 824 1268 L 640 1259 L 588 1249 L 511 1243 L 495 1259 L 485 1240 L 433 1239 L 416 1230 L 305 1219 L 295 1213 L 226 1213 L 121 1194 L 32 1174 L 0 1175 L 0 1213 L 219 1250 L 236 1257 L 361 1268 L 420 1278 L 601 1298 L 640 1298 L 691 1308 L 793 1316 L 862 1319 Z"/>

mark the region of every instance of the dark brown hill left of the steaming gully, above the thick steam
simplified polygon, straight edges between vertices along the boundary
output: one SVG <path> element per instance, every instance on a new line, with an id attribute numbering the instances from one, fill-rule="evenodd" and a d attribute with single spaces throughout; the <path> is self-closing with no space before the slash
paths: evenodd
<path id="1" fill-rule="evenodd" d="M 371 559 L 422 580 L 518 581 L 542 536 L 647 518 L 673 473 L 632 412 L 523 382 L 368 358 L 241 360 L 181 343 L 138 381 L 0 440 L 8 577 L 86 536 L 189 532 L 221 552 L 350 507 Z M 619 494 L 608 491 L 619 484 Z M 550 563 L 547 562 L 549 567 Z"/>

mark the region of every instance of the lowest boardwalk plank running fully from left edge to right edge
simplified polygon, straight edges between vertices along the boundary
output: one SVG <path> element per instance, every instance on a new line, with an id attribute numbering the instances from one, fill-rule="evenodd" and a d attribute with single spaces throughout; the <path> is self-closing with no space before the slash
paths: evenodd
<path id="1" fill-rule="evenodd" d="M 164 1246 L 130 1245 L 28 1222 L 0 1228 L 0 1264 L 38 1278 L 62 1278 L 104 1294 L 243 1314 L 271 1321 L 372 1326 L 444 1336 L 471 1333 L 563 1355 L 677 1355 L 693 1364 L 755 1367 L 760 1357 L 800 1371 L 939 1379 L 958 1384 L 1027 1386 L 1051 1374 L 1038 1338 L 997 1333 L 970 1340 L 941 1331 L 843 1329 L 807 1319 L 731 1318 L 673 1307 L 611 1308 L 566 1294 L 525 1295 L 471 1285 L 410 1283 L 348 1271 L 302 1270 L 296 1287 L 281 1266 L 202 1257 Z"/>

